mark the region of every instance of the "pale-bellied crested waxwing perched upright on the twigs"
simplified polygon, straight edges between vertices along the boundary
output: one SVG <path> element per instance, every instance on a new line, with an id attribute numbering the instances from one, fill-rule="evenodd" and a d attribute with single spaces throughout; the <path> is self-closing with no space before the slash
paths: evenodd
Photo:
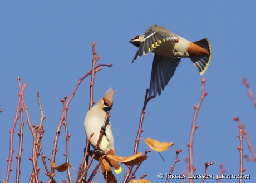
<path id="1" fill-rule="evenodd" d="M 91 137 L 90 144 L 93 148 L 96 147 L 97 141 L 99 139 L 100 130 L 105 121 L 106 112 L 110 111 L 113 106 L 113 96 L 114 90 L 109 88 L 106 91 L 103 98 L 101 98 L 95 106 L 93 106 L 86 114 L 85 117 L 85 132 L 87 136 L 90 136 L 91 133 L 94 135 Z M 111 130 L 110 121 L 107 120 L 106 130 L 101 138 L 99 148 L 97 151 L 101 155 L 105 155 L 108 150 L 110 150 L 109 155 L 115 155 L 114 149 L 114 137 Z M 110 160 L 109 162 L 112 167 L 114 167 L 116 174 L 119 174 L 122 169 L 119 166 L 117 161 Z"/>

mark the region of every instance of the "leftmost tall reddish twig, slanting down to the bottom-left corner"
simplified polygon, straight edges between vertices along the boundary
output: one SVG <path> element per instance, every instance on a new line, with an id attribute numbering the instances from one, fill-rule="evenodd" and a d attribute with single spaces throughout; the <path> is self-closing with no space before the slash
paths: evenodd
<path id="1" fill-rule="evenodd" d="M 13 133 L 14 133 L 16 123 L 17 123 L 18 118 L 19 118 L 18 112 L 19 112 L 20 103 L 22 101 L 22 95 L 23 95 L 23 92 L 24 92 L 24 90 L 27 86 L 27 83 L 25 83 L 24 86 L 21 87 L 20 78 L 17 77 L 17 79 L 18 79 L 18 83 L 19 83 L 19 93 L 18 93 L 19 99 L 18 99 L 18 105 L 17 105 L 17 109 L 16 109 L 16 114 L 15 114 L 12 130 L 9 130 L 9 132 L 10 132 L 9 159 L 7 159 L 8 164 L 7 164 L 7 171 L 6 171 L 6 180 L 4 180 L 3 183 L 9 181 L 9 175 L 10 175 L 10 172 L 12 171 L 11 164 L 12 164 L 12 155 L 13 155 Z"/>

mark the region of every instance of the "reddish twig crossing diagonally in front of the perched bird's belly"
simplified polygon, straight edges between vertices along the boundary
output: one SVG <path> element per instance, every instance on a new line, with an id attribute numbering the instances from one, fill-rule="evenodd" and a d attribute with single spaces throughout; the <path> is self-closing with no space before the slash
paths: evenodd
<path id="1" fill-rule="evenodd" d="M 105 121 L 104 121 L 104 123 L 103 123 L 103 125 L 102 125 L 102 129 L 103 129 L 103 128 L 106 128 L 107 120 L 109 119 L 109 117 L 110 117 L 109 111 L 107 111 L 107 112 L 106 112 Z M 89 169 L 89 167 L 90 167 L 91 164 L 92 164 L 92 161 L 93 161 L 93 159 L 94 159 L 94 157 L 95 157 L 95 153 L 96 153 L 97 149 L 99 148 L 100 141 L 101 141 L 102 135 L 103 135 L 103 133 L 104 133 L 104 130 L 102 130 L 102 129 L 100 130 L 99 139 L 98 139 L 98 141 L 97 141 L 97 144 L 96 144 L 96 146 L 95 146 L 95 149 L 94 149 L 94 151 L 92 152 L 92 157 L 91 157 L 90 161 L 88 162 L 88 164 L 87 164 L 85 170 L 83 171 L 82 176 L 78 179 L 78 182 L 81 182 L 81 181 L 83 180 L 83 178 L 85 178 L 85 175 L 87 174 L 87 170 Z M 92 134 L 92 135 L 93 135 L 93 134 Z M 91 135 L 91 136 L 92 136 L 92 135 Z M 93 172 L 92 172 L 92 173 L 93 173 Z"/>

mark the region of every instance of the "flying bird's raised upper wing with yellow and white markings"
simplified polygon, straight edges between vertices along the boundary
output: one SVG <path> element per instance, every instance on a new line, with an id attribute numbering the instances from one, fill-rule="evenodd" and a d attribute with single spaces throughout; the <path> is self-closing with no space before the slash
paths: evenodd
<path id="1" fill-rule="evenodd" d="M 153 51 L 157 46 L 163 44 L 166 41 L 179 41 L 179 38 L 176 34 L 171 33 L 168 29 L 160 26 L 151 26 L 145 32 L 144 39 L 140 43 L 140 47 L 137 50 L 134 60 L 140 57 L 141 55 L 146 55 L 148 52 Z"/>

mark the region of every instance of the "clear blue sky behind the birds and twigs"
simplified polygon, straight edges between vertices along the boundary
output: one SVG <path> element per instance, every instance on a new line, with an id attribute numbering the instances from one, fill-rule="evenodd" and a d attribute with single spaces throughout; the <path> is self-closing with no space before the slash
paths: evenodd
<path id="1" fill-rule="evenodd" d="M 194 139 L 195 174 L 203 174 L 204 163 L 214 161 L 208 174 L 219 174 L 223 163 L 226 174 L 239 174 L 239 135 L 233 117 L 238 115 L 245 125 L 256 148 L 255 108 L 242 85 L 247 77 L 256 96 L 256 77 L 253 54 L 255 52 L 254 1 L 1 1 L 0 2 L 0 180 L 6 176 L 9 154 L 9 129 L 12 128 L 18 101 L 17 76 L 28 86 L 24 92 L 29 116 L 33 124 L 40 121 L 36 91 L 40 91 L 46 119 L 42 139 L 43 152 L 51 156 L 53 138 L 62 113 L 60 98 L 70 96 L 78 78 L 91 69 L 91 43 L 96 41 L 99 63 L 112 63 L 96 74 L 95 101 L 102 98 L 109 87 L 116 89 L 110 121 L 115 138 L 117 155 L 130 156 L 139 125 L 146 88 L 149 87 L 152 54 L 142 56 L 131 64 L 137 48 L 129 43 L 137 34 L 144 34 L 153 24 L 163 26 L 189 41 L 208 38 L 213 50 L 210 66 L 203 75 L 206 78 L 205 97 L 200 108 Z M 182 59 L 173 78 L 161 96 L 151 100 L 146 108 L 141 137 L 151 137 L 161 142 L 174 142 L 168 151 L 151 152 L 136 173 L 139 178 L 147 174 L 151 182 L 159 180 L 159 172 L 170 170 L 175 150 L 182 149 L 180 162 L 173 174 L 181 174 L 185 168 L 193 105 L 201 94 L 201 75 L 188 59 Z M 83 158 L 86 135 L 83 121 L 88 111 L 90 77 L 80 85 L 68 110 L 70 162 L 78 170 Z M 18 126 L 17 126 L 18 127 Z M 56 164 L 65 162 L 65 129 L 62 127 Z M 9 182 L 14 182 L 18 152 L 18 128 L 14 136 L 14 154 Z M 24 126 L 22 154 L 22 182 L 31 174 L 32 136 L 28 125 Z M 251 156 L 244 141 L 244 152 Z M 139 151 L 149 147 L 140 141 Z M 95 166 L 96 164 L 93 164 Z M 40 180 L 47 181 L 41 160 Z M 245 182 L 255 182 L 255 163 L 244 160 Z M 127 170 L 124 167 L 125 171 Z M 92 170 L 92 169 L 91 169 Z M 90 171 L 89 171 L 90 172 Z M 76 172 L 71 169 L 75 180 Z M 99 177 L 97 175 L 96 177 Z M 121 182 L 121 175 L 116 179 Z M 56 173 L 55 179 L 67 179 L 66 172 Z M 95 179 L 96 180 L 96 179 Z M 195 180 L 200 182 L 201 180 Z M 206 180 L 216 182 L 216 180 Z M 99 182 L 104 182 L 100 180 Z M 173 180 L 185 182 L 185 180 Z M 222 182 L 237 182 L 225 179 Z"/>

